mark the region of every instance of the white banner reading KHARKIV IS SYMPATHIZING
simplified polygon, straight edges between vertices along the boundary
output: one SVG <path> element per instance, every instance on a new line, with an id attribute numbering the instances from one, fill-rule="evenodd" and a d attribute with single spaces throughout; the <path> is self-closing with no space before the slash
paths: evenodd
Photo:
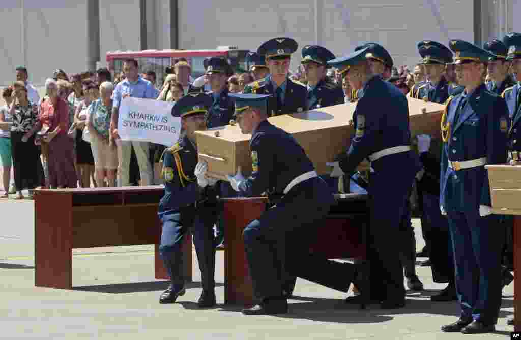
<path id="1" fill-rule="evenodd" d="M 172 116 L 172 107 L 171 101 L 123 98 L 119 107 L 119 137 L 167 147 L 174 145 L 181 133 L 181 118 Z"/>

